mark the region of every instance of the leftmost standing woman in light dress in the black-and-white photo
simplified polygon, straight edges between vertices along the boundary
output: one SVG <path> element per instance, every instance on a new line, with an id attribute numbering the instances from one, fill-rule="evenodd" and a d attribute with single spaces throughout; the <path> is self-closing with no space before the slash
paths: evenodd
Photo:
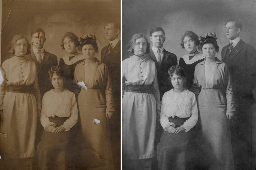
<path id="1" fill-rule="evenodd" d="M 122 145 L 127 169 L 151 167 L 154 155 L 161 101 L 155 63 L 144 56 L 149 47 L 145 35 L 133 35 L 127 48 L 134 55 L 122 62 Z"/>

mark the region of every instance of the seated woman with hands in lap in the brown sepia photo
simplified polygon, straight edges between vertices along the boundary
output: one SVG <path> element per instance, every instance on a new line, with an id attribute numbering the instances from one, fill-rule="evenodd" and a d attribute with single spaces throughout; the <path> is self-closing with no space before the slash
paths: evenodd
<path id="1" fill-rule="evenodd" d="M 64 88 L 65 77 L 58 65 L 51 67 L 48 73 L 54 89 L 46 92 L 42 100 L 40 122 L 44 131 L 37 147 L 38 165 L 39 169 L 56 169 L 58 166 L 64 169 L 70 129 L 78 118 L 77 101 L 75 94 Z M 60 161 L 56 162 L 58 157 Z"/>

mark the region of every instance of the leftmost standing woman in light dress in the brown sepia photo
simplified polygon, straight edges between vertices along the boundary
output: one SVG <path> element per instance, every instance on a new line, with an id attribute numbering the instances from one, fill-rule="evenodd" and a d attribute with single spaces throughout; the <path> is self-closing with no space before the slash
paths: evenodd
<path id="1" fill-rule="evenodd" d="M 36 120 L 41 110 L 36 63 L 24 56 L 30 54 L 24 35 L 14 36 L 8 50 L 15 56 L 2 64 L 5 76 L 1 84 L 1 133 L 5 137 L 1 137 L 1 158 L 4 169 L 31 169 Z"/>

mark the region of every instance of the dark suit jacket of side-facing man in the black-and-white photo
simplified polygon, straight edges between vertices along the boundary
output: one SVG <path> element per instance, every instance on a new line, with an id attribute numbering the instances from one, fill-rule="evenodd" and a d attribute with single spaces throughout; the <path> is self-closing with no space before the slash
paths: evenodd
<path id="1" fill-rule="evenodd" d="M 222 48 L 222 61 L 228 56 L 228 45 Z M 231 50 L 226 64 L 230 68 L 233 90 L 236 96 L 251 96 L 256 86 L 256 50 L 242 40 Z"/>

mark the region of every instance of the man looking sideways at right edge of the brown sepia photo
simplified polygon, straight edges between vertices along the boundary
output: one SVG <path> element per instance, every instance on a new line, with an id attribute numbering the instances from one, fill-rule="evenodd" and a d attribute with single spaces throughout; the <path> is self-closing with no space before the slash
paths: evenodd
<path id="1" fill-rule="evenodd" d="M 105 36 L 109 44 L 101 50 L 101 61 L 108 66 L 108 70 L 112 82 L 113 97 L 115 101 L 116 114 L 110 119 L 111 145 L 114 167 L 120 165 L 120 126 L 121 126 L 121 42 L 118 37 L 120 33 L 120 23 L 117 21 L 109 21 L 105 25 Z M 119 167 L 120 168 L 120 167 Z"/>

